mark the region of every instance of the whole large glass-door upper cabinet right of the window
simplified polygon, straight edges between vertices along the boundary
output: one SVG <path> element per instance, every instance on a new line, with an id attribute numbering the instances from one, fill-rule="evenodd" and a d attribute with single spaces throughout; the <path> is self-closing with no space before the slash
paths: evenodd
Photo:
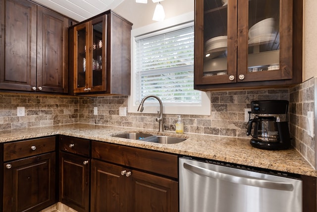
<path id="1" fill-rule="evenodd" d="M 302 0 L 196 0 L 195 89 L 302 82 Z"/>

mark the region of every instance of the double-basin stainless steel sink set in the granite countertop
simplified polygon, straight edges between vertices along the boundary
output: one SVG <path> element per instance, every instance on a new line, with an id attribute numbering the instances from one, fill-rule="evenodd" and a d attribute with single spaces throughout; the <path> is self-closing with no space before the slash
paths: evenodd
<path id="1" fill-rule="evenodd" d="M 179 143 L 186 140 L 185 138 L 177 138 L 172 136 L 157 136 L 147 133 L 123 133 L 112 137 L 165 144 Z"/>

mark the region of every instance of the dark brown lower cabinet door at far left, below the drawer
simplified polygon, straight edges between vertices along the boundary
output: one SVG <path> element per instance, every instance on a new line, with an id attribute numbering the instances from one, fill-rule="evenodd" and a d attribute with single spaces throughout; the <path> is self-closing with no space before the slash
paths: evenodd
<path id="1" fill-rule="evenodd" d="M 38 212 L 56 202 L 55 152 L 3 166 L 3 212 Z"/>

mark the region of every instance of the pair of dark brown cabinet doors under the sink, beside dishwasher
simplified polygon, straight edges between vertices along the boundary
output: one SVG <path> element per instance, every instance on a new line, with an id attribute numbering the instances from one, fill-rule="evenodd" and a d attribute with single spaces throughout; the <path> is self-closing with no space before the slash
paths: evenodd
<path id="1" fill-rule="evenodd" d="M 92 159 L 91 212 L 178 212 L 178 182 Z"/>

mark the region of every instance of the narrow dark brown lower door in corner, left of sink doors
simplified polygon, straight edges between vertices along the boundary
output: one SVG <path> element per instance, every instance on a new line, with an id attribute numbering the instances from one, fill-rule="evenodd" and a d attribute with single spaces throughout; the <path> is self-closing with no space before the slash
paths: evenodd
<path id="1" fill-rule="evenodd" d="M 90 159 L 60 152 L 59 202 L 78 212 L 89 212 Z"/>

